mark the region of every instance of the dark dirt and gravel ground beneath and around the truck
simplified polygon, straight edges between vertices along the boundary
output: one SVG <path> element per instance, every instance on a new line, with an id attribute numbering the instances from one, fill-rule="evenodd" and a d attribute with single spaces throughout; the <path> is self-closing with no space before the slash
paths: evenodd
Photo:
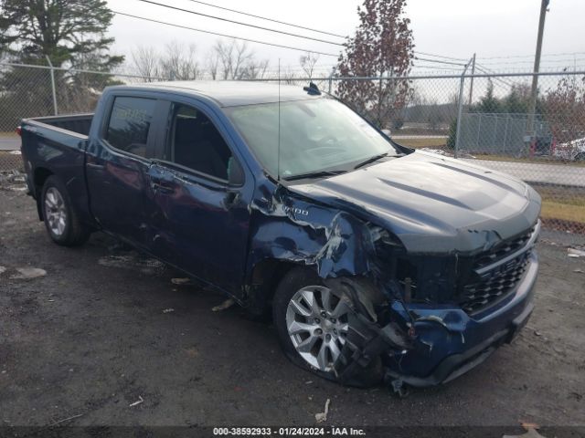
<path id="1" fill-rule="evenodd" d="M 224 297 L 105 235 L 52 244 L 32 199 L 0 186 L 0 425 L 314 425 L 327 399 L 325 424 L 583 425 L 585 257 L 538 250 L 536 310 L 515 342 L 401 400 L 296 368 L 270 325 L 212 311 Z M 21 267 L 47 274 L 14 278 Z"/>

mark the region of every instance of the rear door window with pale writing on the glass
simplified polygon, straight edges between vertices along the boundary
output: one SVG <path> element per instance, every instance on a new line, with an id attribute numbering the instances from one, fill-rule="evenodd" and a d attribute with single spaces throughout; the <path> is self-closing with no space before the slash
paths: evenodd
<path id="1" fill-rule="evenodd" d="M 155 104 L 154 99 L 115 98 L 105 140 L 116 149 L 145 157 Z"/>

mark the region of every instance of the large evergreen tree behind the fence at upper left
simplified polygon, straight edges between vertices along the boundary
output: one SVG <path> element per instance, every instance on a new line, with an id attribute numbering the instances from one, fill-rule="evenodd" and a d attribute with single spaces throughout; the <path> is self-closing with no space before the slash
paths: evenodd
<path id="1" fill-rule="evenodd" d="M 110 54 L 106 36 L 112 11 L 104 0 L 0 0 L 0 56 L 55 70 L 60 112 L 91 110 L 112 76 L 79 73 L 72 68 L 109 73 L 123 62 Z M 18 120 L 53 112 L 50 73 L 40 68 L 9 68 L 0 76 L 0 130 Z"/>

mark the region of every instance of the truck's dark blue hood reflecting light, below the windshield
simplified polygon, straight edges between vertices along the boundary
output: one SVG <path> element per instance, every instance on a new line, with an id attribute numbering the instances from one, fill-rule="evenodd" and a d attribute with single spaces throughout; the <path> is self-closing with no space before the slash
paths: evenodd
<path id="1" fill-rule="evenodd" d="M 422 151 L 289 189 L 378 224 L 417 253 L 485 249 L 540 213 L 540 196 L 526 183 Z"/>

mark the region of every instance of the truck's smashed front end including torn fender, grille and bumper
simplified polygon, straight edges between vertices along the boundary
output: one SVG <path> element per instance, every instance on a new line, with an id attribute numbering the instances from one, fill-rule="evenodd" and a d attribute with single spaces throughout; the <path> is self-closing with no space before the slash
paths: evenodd
<path id="1" fill-rule="evenodd" d="M 475 232 L 475 249 L 437 254 L 408 251 L 367 212 L 283 186 L 251 209 L 258 217 L 250 265 L 274 258 L 314 266 L 350 309 L 343 349 L 324 377 L 386 381 L 399 394 L 404 384 L 450 381 L 509 342 L 532 311 L 539 224 L 505 239 Z"/>

